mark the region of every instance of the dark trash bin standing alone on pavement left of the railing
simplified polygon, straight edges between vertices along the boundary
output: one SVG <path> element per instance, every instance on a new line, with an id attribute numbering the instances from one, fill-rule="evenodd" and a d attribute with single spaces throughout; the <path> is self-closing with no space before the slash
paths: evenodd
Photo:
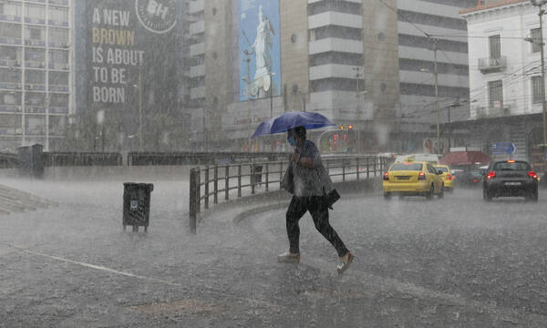
<path id="1" fill-rule="evenodd" d="M 151 183 L 125 182 L 123 184 L 123 231 L 132 226 L 139 231 L 139 226 L 148 231 L 150 223 L 150 193 L 154 190 Z"/>

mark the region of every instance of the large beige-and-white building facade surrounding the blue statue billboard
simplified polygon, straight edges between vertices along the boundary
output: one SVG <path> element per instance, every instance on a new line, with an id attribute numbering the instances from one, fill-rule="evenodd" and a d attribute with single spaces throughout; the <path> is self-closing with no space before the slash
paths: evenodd
<path id="1" fill-rule="evenodd" d="M 196 145 L 207 139 L 222 149 L 279 149 L 284 136 L 249 136 L 263 120 L 290 110 L 316 111 L 339 125 L 352 125 L 345 138 L 353 144 L 348 141 L 345 149 L 356 150 L 357 129 L 363 132 L 361 151 L 384 143 L 373 129 L 383 125 L 381 133 L 391 131 L 398 58 L 397 27 L 381 20 L 396 21 L 395 13 L 372 0 L 280 0 L 281 95 L 240 101 L 245 81 L 238 68 L 246 58 L 237 48 L 242 37 L 238 5 L 235 0 L 190 3 Z"/>

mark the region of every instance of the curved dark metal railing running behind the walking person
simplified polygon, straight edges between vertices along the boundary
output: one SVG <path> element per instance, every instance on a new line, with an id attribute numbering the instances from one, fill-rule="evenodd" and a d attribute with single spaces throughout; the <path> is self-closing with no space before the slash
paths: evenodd
<path id="1" fill-rule="evenodd" d="M 378 156 L 351 156 L 323 159 L 333 182 L 381 177 L 391 159 Z M 281 181 L 289 162 L 263 161 L 192 168 L 190 172 L 191 232 L 196 233 L 197 215 L 219 199 L 230 200 L 263 192 L 282 190 Z"/>

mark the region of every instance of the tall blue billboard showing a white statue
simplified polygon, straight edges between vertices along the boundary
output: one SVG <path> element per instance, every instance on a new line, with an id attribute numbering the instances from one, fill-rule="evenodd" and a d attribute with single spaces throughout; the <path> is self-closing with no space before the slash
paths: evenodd
<path id="1" fill-rule="evenodd" d="M 239 1 L 240 101 L 281 95 L 279 0 Z"/>

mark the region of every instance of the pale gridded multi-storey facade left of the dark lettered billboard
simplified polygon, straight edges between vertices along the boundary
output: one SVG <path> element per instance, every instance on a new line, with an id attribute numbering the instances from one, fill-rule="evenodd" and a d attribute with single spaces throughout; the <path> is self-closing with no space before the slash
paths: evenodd
<path id="1" fill-rule="evenodd" d="M 73 104 L 69 0 L 0 2 L 0 151 L 58 149 Z"/>

